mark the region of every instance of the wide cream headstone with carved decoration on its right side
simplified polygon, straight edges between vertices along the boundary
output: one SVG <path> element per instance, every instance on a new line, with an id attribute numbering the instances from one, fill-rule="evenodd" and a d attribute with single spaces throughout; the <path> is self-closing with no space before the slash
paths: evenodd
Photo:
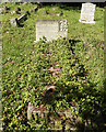
<path id="1" fill-rule="evenodd" d="M 45 36 L 47 41 L 66 37 L 68 35 L 68 20 L 37 20 L 36 42 Z"/>

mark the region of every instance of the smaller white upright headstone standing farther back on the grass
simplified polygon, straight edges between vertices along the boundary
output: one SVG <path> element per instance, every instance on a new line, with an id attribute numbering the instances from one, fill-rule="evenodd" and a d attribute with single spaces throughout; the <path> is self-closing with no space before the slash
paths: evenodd
<path id="1" fill-rule="evenodd" d="M 94 13 L 96 4 L 93 3 L 82 3 L 80 22 L 95 24 Z"/>

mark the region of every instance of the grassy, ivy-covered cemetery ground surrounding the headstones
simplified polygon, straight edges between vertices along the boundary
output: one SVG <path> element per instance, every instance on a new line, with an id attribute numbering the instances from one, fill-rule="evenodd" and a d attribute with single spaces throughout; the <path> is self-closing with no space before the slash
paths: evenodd
<path id="1" fill-rule="evenodd" d="M 34 11 L 37 4 L 30 2 L 3 6 L 9 8 L 1 14 L 3 131 L 105 132 L 104 9 L 96 7 L 95 24 L 84 24 L 79 22 L 80 7 L 40 4 Z M 25 13 L 13 13 L 16 7 L 30 14 L 14 28 L 10 20 Z M 68 19 L 68 40 L 46 42 L 44 37 L 34 44 L 37 19 Z M 28 102 L 46 107 L 47 119 L 34 114 L 28 120 Z M 58 113 L 66 108 L 71 116 Z"/>

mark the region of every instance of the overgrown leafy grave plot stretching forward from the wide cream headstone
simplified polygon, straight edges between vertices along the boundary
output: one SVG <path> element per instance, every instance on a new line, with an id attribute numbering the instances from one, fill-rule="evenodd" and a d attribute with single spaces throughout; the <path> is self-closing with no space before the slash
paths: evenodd
<path id="1" fill-rule="evenodd" d="M 42 41 L 36 43 L 35 50 L 36 56 L 39 56 L 37 64 L 40 65 L 36 72 L 39 73 L 43 86 L 34 89 L 35 97 L 38 94 L 38 98 L 35 98 L 35 103 L 38 105 L 27 105 L 27 123 L 37 130 L 45 127 L 47 130 L 75 130 L 78 116 L 70 109 L 75 109 L 75 102 L 71 101 L 74 91 L 70 92 L 74 84 L 66 84 L 71 80 L 74 82 L 78 78 L 70 69 L 73 61 L 69 58 L 71 56 L 73 59 L 74 55 L 69 51 L 70 45 L 66 40 L 57 40 L 54 43 Z M 74 61 L 76 62 L 76 58 Z M 76 68 L 74 65 L 72 67 Z M 67 80 L 68 78 L 71 80 Z"/>

